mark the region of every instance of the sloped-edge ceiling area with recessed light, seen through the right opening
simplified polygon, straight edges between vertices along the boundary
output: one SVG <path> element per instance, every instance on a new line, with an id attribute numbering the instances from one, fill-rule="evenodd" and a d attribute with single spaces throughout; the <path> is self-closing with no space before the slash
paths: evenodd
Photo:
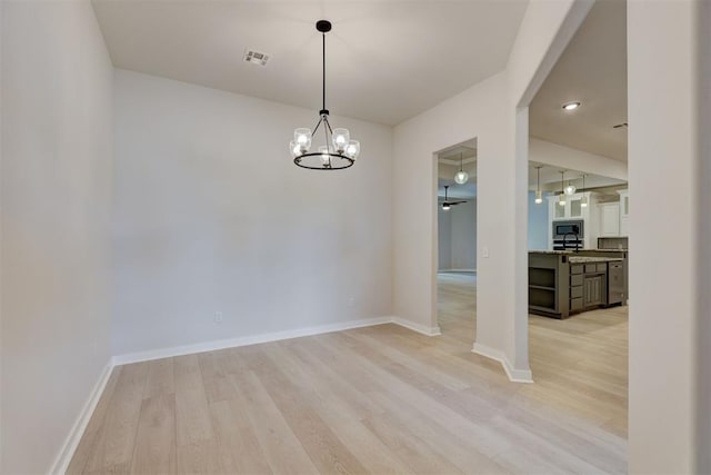
<path id="1" fill-rule="evenodd" d="M 574 111 L 562 105 L 580 101 Z M 531 102 L 530 135 L 627 161 L 627 2 L 598 0 Z"/>

